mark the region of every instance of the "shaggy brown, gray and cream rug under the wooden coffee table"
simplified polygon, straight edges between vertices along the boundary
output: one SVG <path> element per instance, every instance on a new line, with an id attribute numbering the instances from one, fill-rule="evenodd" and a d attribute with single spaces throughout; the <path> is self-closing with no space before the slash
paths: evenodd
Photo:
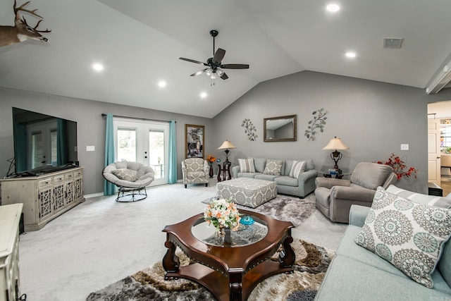
<path id="1" fill-rule="evenodd" d="M 296 253 L 293 274 L 277 274 L 261 281 L 249 296 L 249 301 L 314 300 L 324 274 L 335 251 L 295 239 L 291 244 Z M 190 259 L 178 252 L 180 265 Z M 278 260 L 278 252 L 271 259 Z M 138 271 L 106 288 L 90 293 L 87 301 L 144 301 L 144 300 L 216 300 L 209 290 L 193 281 L 179 278 L 165 281 L 161 262 Z"/>

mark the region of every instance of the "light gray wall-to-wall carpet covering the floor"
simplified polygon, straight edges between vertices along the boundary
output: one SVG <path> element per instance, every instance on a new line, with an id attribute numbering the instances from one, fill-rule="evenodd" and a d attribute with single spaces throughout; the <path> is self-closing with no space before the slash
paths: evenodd
<path id="1" fill-rule="evenodd" d="M 150 266 L 166 252 L 166 225 L 204 210 L 216 181 L 204 185 L 162 185 L 135 203 L 115 196 L 94 197 L 39 231 L 20 235 L 20 293 L 32 301 L 85 300 L 89 293 Z M 294 238 L 336 250 L 346 225 L 318 210 L 292 229 Z"/>

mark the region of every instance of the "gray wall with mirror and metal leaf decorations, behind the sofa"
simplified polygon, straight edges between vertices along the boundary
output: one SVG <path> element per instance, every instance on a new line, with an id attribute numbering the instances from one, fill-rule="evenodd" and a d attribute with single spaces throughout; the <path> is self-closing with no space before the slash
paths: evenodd
<path id="1" fill-rule="evenodd" d="M 339 75 L 302 71 L 261 82 L 214 117 L 214 145 L 224 138 L 237 147 L 229 160 L 262 156 L 272 159 L 314 159 L 317 170 L 333 167 L 330 152 L 322 150 L 337 136 L 350 149 L 342 151 L 338 166 L 354 169 L 361 161 L 386 160 L 392 152 L 419 169 L 417 180 L 398 185 L 427 191 L 427 103 L 451 99 L 451 91 L 427 95 L 424 89 Z M 323 133 L 304 137 L 312 112 L 327 113 Z M 297 114 L 297 141 L 263 142 L 263 118 Z M 249 141 L 241 127 L 249 118 L 257 127 L 257 141 Z M 400 145 L 409 144 L 409 151 Z M 216 153 L 221 154 L 221 153 Z"/>

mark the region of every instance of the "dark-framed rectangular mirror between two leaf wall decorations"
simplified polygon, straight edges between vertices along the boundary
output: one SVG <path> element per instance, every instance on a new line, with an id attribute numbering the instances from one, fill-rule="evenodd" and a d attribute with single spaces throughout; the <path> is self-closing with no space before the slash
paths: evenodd
<path id="1" fill-rule="evenodd" d="M 296 115 L 263 119 L 264 142 L 296 141 Z"/>

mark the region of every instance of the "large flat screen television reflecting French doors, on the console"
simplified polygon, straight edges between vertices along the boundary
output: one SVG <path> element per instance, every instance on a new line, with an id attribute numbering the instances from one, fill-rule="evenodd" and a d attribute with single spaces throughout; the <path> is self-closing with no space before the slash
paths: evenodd
<path id="1" fill-rule="evenodd" d="M 77 123 L 13 107 L 14 159 L 17 176 L 76 167 Z"/>

